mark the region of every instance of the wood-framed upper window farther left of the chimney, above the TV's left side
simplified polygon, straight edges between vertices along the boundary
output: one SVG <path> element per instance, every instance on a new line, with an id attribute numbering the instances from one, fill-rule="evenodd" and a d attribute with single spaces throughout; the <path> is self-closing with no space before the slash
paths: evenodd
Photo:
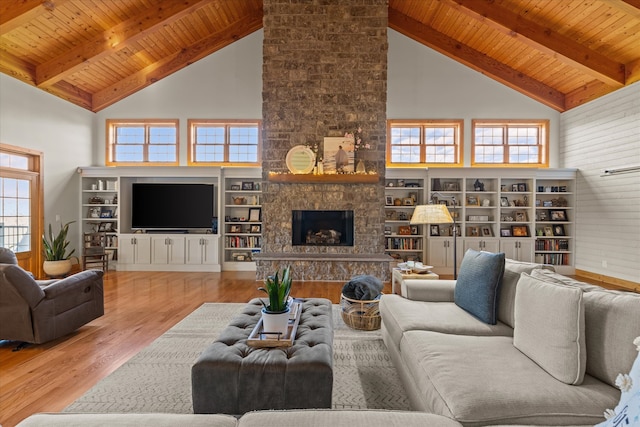
<path id="1" fill-rule="evenodd" d="M 107 165 L 178 164 L 178 120 L 107 120 Z"/>

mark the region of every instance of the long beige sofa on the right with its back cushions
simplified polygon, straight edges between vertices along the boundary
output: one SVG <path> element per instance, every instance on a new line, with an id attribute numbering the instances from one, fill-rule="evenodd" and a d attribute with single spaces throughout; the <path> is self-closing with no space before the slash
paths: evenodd
<path id="1" fill-rule="evenodd" d="M 465 426 L 604 421 L 638 354 L 640 295 L 540 264 L 506 259 L 501 271 L 499 255 L 467 252 L 457 282 L 410 280 L 404 297 L 382 297 L 382 336 L 412 409 Z M 465 286 L 482 307 L 468 306 Z"/>

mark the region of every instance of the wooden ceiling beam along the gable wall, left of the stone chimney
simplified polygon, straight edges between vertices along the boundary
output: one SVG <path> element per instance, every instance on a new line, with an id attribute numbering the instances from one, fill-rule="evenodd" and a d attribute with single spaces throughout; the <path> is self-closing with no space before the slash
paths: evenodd
<path id="1" fill-rule="evenodd" d="M 152 83 L 181 70 L 213 52 L 262 28 L 262 10 L 243 16 L 226 29 L 211 34 L 180 52 L 162 59 L 93 96 L 91 110 L 100 111 Z"/>

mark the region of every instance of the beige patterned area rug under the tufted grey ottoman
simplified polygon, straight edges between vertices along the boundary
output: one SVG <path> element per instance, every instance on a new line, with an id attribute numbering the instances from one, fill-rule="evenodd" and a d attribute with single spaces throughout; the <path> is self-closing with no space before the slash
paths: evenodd
<path id="1" fill-rule="evenodd" d="M 203 304 L 63 412 L 193 413 L 191 366 L 243 307 Z M 339 305 L 333 320 L 333 408 L 408 410 L 380 332 L 349 328 Z"/>

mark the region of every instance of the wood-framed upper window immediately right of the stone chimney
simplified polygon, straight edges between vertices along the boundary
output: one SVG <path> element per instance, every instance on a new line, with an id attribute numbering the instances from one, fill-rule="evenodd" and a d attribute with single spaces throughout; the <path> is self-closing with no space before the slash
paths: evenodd
<path id="1" fill-rule="evenodd" d="M 461 166 L 462 120 L 389 120 L 387 165 Z"/>

